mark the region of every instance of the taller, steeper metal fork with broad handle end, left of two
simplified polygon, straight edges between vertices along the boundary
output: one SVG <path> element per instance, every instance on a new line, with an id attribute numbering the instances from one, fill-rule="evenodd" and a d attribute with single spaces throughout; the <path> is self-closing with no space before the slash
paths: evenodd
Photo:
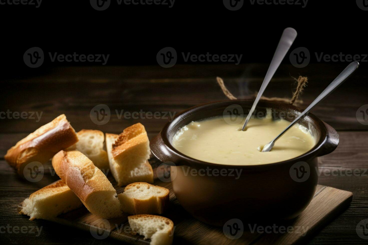
<path id="1" fill-rule="evenodd" d="M 245 123 L 242 129 L 243 131 L 245 131 L 245 126 L 247 126 L 247 123 L 251 119 L 254 109 L 256 105 L 258 104 L 258 101 L 261 98 L 263 92 L 265 91 L 268 83 L 270 82 L 271 78 L 275 74 L 277 68 L 279 68 L 281 61 L 284 59 L 287 51 L 289 51 L 289 48 L 291 47 L 291 44 L 293 44 L 296 37 L 297 37 L 297 31 L 291 27 L 288 27 L 283 31 L 279 44 L 277 44 L 275 54 L 273 54 L 271 64 L 268 67 L 265 79 L 263 79 L 263 82 L 262 82 L 261 88 L 258 91 L 257 97 L 254 100 L 254 103 L 252 105 L 251 110 L 249 111 L 247 119 L 245 119 Z"/>

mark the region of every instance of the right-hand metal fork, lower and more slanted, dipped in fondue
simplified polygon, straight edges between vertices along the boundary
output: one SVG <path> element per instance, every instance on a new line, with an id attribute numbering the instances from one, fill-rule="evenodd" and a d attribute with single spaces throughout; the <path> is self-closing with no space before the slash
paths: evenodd
<path id="1" fill-rule="evenodd" d="M 351 62 L 344 71 L 340 73 L 335 80 L 330 83 L 328 87 L 326 87 L 325 90 L 319 96 L 305 109 L 292 123 L 290 123 L 289 126 L 286 127 L 276 138 L 274 138 L 270 143 L 266 144 L 262 152 L 268 152 L 272 149 L 273 145 L 275 145 L 275 141 L 278 140 L 287 130 L 289 130 L 300 118 L 302 118 L 305 114 L 307 114 L 313 107 L 315 107 L 316 104 L 318 104 L 320 101 L 322 101 L 324 98 L 329 96 L 330 93 L 332 93 L 337 87 L 339 87 L 343 82 L 345 82 L 346 79 L 349 78 L 351 74 L 358 68 L 359 63 L 357 61 Z"/>

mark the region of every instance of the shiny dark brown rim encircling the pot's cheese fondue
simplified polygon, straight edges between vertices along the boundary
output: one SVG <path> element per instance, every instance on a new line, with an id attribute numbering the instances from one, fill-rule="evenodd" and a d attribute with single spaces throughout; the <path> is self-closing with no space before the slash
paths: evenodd
<path id="1" fill-rule="evenodd" d="M 173 147 L 173 145 L 171 144 L 169 138 L 166 137 L 167 135 L 167 131 L 169 129 L 169 126 L 173 123 L 175 123 L 175 119 L 177 119 L 178 117 L 180 117 L 181 115 L 198 109 L 198 108 L 203 108 L 206 107 L 208 105 L 215 105 L 215 104 L 222 104 L 222 103 L 226 103 L 226 102 L 234 102 L 233 104 L 237 104 L 237 101 L 241 101 L 241 102 L 253 102 L 253 100 L 249 100 L 249 99 L 240 99 L 240 100 L 221 100 L 221 101 L 213 101 L 213 102 L 208 102 L 205 104 L 199 104 L 199 105 L 195 105 L 194 107 L 190 107 L 188 109 L 185 109 L 184 111 L 181 111 L 179 114 L 176 114 L 174 119 L 171 122 L 167 122 L 164 127 L 162 128 L 162 130 L 159 133 L 159 136 L 162 138 L 162 142 L 163 144 L 168 148 L 168 150 L 170 151 L 171 154 L 174 154 L 175 156 L 177 156 L 177 158 L 180 158 L 182 161 L 185 161 L 185 165 L 191 165 L 191 166 L 206 166 L 206 167 L 213 167 L 213 168 L 236 168 L 236 169 L 262 169 L 264 167 L 275 167 L 275 166 L 280 166 L 280 165 L 287 165 L 290 163 L 296 163 L 299 161 L 308 161 L 311 158 L 314 158 L 317 156 L 318 152 L 320 151 L 320 149 L 322 148 L 322 145 L 326 142 L 326 136 L 327 136 L 327 128 L 325 126 L 325 124 L 323 123 L 323 121 L 321 119 L 319 119 L 318 117 L 316 117 L 314 114 L 312 113 L 308 113 L 307 116 L 310 118 L 312 121 L 314 121 L 317 125 L 320 126 L 321 129 L 321 137 L 319 138 L 319 141 L 315 143 L 315 146 L 310 149 L 309 151 L 305 152 L 304 154 L 297 156 L 295 158 L 291 158 L 285 161 L 281 161 L 281 162 L 274 162 L 274 163 L 265 163 L 265 164 L 260 164 L 260 165 L 223 165 L 223 164 L 218 164 L 218 163 L 210 163 L 210 162 L 205 162 L 205 161 L 201 161 L 195 158 L 192 158 L 190 156 L 187 156 L 183 153 L 181 153 L 180 151 L 178 151 L 177 149 L 175 149 Z M 290 105 L 290 104 L 285 104 L 285 103 L 281 103 L 281 102 L 273 102 L 273 101 L 266 101 L 266 100 L 260 100 L 258 102 L 257 107 L 259 106 L 259 104 L 270 104 L 270 105 L 275 105 L 280 107 L 280 105 L 283 106 L 287 106 L 290 107 L 291 109 L 294 109 L 295 111 L 298 112 L 302 112 L 304 111 L 304 109 L 300 108 L 300 107 L 296 107 L 295 105 Z M 231 104 L 229 104 L 231 105 Z M 265 106 L 268 107 L 268 106 Z M 275 108 L 275 107 L 269 107 L 269 108 Z M 151 147 L 152 148 L 152 147 Z M 158 159 L 160 159 L 155 152 L 153 152 L 153 155 L 155 155 Z M 172 156 L 170 156 L 169 158 L 173 158 Z M 175 163 L 174 163 L 175 164 Z"/>

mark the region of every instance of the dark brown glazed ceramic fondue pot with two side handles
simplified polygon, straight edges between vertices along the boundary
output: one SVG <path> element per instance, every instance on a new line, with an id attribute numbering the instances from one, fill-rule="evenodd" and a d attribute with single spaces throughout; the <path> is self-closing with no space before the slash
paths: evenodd
<path id="1" fill-rule="evenodd" d="M 185 210 L 197 219 L 222 226 L 230 219 L 293 219 L 308 206 L 318 181 L 318 156 L 332 152 L 339 135 L 331 126 L 308 114 L 299 121 L 315 139 L 315 146 L 296 158 L 263 165 L 221 165 L 182 154 L 172 145 L 173 136 L 192 121 L 224 115 L 237 104 L 244 112 L 252 100 L 227 100 L 198 105 L 177 114 L 151 140 L 152 153 L 169 162 L 173 191 Z M 260 101 L 258 112 L 271 108 L 275 115 L 291 115 L 292 121 L 301 108 L 289 104 Z M 267 142 L 265 142 L 267 143 Z"/>

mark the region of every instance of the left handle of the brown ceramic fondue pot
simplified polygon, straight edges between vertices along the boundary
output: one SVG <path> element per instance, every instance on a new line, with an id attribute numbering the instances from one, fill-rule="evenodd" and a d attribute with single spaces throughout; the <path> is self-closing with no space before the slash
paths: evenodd
<path id="1" fill-rule="evenodd" d="M 180 158 L 162 140 L 161 132 L 149 142 L 152 154 L 167 165 L 182 165 Z M 174 163 L 174 164 L 172 164 Z"/>

